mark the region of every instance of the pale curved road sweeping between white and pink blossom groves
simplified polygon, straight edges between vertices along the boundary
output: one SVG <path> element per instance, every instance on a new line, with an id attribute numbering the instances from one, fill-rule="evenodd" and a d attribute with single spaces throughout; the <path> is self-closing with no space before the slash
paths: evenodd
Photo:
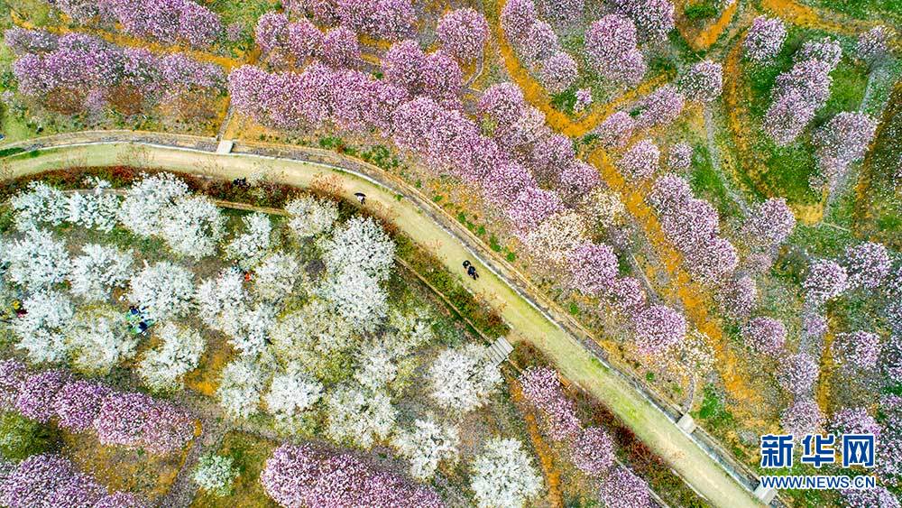
<path id="1" fill-rule="evenodd" d="M 131 165 L 228 180 L 262 173 L 270 181 L 299 188 L 327 181 L 348 196 L 362 191 L 367 196 L 367 208 L 389 218 L 436 254 L 451 272 L 458 271 L 461 260 L 473 261 L 482 276 L 477 282 L 469 278 L 461 281 L 508 322 L 513 330 L 509 340 L 528 341 L 540 348 L 568 380 L 608 406 L 708 502 L 730 508 L 761 505 L 750 492 L 752 479 L 745 476 L 747 473 L 737 478 L 732 467 L 723 464 L 724 457 L 703 449 L 694 437 L 678 429 L 673 415 L 665 412 L 670 408 L 662 409 L 651 394 L 612 368 L 594 343 L 571 333 L 572 325 L 567 328 L 553 307 L 546 307 L 544 297 L 530 291 L 531 284 L 510 264 L 486 249 L 418 190 L 389 173 L 333 152 L 281 145 L 273 148 L 238 143 L 234 152 L 219 154 L 213 138 L 177 134 L 60 134 L 4 148 L 11 147 L 24 152 L 0 160 L 3 180 L 72 166 Z"/>

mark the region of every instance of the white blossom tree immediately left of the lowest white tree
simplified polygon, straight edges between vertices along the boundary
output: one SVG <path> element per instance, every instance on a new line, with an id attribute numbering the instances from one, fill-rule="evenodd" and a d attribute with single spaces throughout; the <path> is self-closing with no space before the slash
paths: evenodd
<path id="1" fill-rule="evenodd" d="M 427 481 L 435 476 L 439 462 L 457 461 L 460 434 L 455 426 L 418 419 L 413 422 L 413 428 L 398 432 L 392 444 L 402 457 L 410 460 L 410 476 Z"/>

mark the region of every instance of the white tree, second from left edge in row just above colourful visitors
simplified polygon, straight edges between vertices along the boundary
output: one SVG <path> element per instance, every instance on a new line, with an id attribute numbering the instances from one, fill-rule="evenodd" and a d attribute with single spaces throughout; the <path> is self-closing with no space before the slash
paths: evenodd
<path id="1" fill-rule="evenodd" d="M 86 244 L 85 254 L 72 260 L 69 291 L 87 301 L 106 300 L 114 288 L 124 287 L 132 270 L 132 253 L 113 246 Z"/>

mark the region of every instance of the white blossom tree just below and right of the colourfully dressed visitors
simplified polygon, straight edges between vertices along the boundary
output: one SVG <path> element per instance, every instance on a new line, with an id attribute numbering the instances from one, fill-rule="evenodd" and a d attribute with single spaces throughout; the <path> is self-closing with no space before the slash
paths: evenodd
<path id="1" fill-rule="evenodd" d="M 156 327 L 154 336 L 160 345 L 144 353 L 138 374 L 154 392 L 175 391 L 182 379 L 200 363 L 207 341 L 198 330 L 170 321 Z"/>

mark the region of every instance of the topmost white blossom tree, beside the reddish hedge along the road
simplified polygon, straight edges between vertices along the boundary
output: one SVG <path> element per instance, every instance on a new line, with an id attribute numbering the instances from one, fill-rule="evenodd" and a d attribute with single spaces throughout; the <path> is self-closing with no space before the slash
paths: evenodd
<path id="1" fill-rule="evenodd" d="M 157 235 L 163 209 L 188 194 L 188 185 L 171 173 L 145 174 L 128 189 L 119 207 L 119 220 L 135 235 Z"/>

